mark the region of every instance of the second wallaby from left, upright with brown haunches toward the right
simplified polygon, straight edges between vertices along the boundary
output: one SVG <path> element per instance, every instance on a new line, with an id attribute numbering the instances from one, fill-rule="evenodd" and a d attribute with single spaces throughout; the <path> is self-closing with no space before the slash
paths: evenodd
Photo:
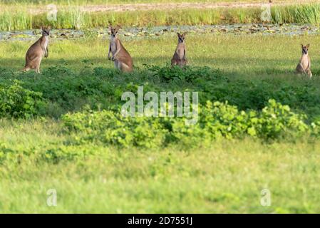
<path id="1" fill-rule="evenodd" d="M 108 59 L 114 61 L 115 68 L 123 72 L 133 71 L 133 59 L 131 58 L 128 51 L 120 42 L 118 37 L 119 27 L 110 26 L 111 36 L 110 36 L 110 46 L 108 52 Z M 110 58 L 110 53 L 112 53 L 112 58 Z"/>

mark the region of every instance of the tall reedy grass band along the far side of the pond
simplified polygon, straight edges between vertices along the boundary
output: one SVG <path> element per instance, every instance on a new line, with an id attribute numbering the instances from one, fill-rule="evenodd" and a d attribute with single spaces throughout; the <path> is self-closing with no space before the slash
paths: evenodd
<path id="1" fill-rule="evenodd" d="M 48 21 L 46 14 L 31 14 L 30 6 L 4 6 L 0 10 L 0 31 L 40 28 L 97 28 L 109 24 L 122 26 L 204 25 L 260 23 L 259 8 L 234 9 L 172 9 L 125 12 L 86 12 L 78 6 L 59 9 L 57 21 Z M 273 6 L 272 22 L 277 24 L 319 24 L 320 4 Z"/>

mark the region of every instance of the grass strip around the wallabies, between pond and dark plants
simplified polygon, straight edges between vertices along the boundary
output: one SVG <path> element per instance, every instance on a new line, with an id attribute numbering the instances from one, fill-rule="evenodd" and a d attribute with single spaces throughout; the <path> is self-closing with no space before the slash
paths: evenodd
<path id="1" fill-rule="evenodd" d="M 125 38 L 125 47 L 133 56 L 136 67 L 143 64 L 165 66 L 170 63 L 177 44 L 175 33 L 153 38 Z M 0 42 L 2 68 L 19 71 L 24 66 L 24 55 L 33 41 Z M 233 36 L 189 33 L 186 38 L 187 56 L 192 66 L 210 66 L 234 76 L 287 77 L 294 80 L 296 64 L 301 57 L 301 43 L 310 43 L 312 70 L 319 76 L 319 36 Z M 239 51 L 234 51 L 234 50 Z M 80 71 L 88 65 L 113 67 L 106 59 L 108 41 L 100 38 L 77 40 L 51 40 L 50 57 L 41 68 L 66 63 Z M 316 78 L 316 77 L 315 77 Z"/>

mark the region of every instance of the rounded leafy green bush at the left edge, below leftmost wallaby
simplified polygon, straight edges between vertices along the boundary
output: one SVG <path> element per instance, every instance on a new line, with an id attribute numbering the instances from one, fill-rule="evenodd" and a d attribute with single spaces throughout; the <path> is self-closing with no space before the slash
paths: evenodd
<path id="1" fill-rule="evenodd" d="M 46 103 L 42 93 L 27 90 L 14 81 L 0 87 L 0 117 L 30 118 L 43 113 Z"/>

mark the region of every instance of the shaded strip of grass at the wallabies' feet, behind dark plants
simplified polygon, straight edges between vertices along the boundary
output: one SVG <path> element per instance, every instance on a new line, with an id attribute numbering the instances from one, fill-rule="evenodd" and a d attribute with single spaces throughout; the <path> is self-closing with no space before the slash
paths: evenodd
<path id="1" fill-rule="evenodd" d="M 155 56 L 153 58 L 135 57 L 133 56 L 135 68 L 143 68 L 144 64 L 156 66 L 169 66 L 170 58 L 164 56 Z M 295 71 L 296 60 L 279 60 L 269 58 L 189 58 L 190 66 L 209 66 L 211 68 L 220 68 L 225 73 L 232 73 L 234 76 L 254 76 L 254 75 L 285 75 L 292 74 Z M 44 58 L 41 63 L 41 69 L 49 66 L 66 66 L 75 71 L 90 66 L 113 68 L 113 62 L 105 58 Z M 14 71 L 20 71 L 24 67 L 24 57 L 22 58 L 1 58 L 0 67 L 8 68 Z M 314 76 L 320 75 L 320 69 L 316 64 L 311 68 Z"/>

